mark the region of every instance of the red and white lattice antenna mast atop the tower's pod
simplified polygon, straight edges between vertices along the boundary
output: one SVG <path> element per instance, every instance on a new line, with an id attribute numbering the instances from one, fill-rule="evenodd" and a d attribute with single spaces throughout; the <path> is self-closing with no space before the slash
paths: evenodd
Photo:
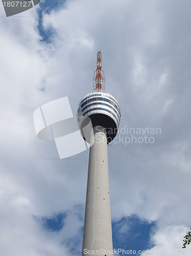
<path id="1" fill-rule="evenodd" d="M 93 76 L 93 91 L 105 91 L 104 70 L 102 70 L 102 51 L 97 54 L 97 68 Z"/>

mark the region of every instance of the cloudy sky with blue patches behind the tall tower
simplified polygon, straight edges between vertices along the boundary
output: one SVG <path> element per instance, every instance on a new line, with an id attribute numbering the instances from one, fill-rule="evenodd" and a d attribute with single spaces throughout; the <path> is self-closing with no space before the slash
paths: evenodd
<path id="1" fill-rule="evenodd" d="M 98 50 L 122 115 L 108 146 L 113 248 L 190 255 L 190 10 L 188 0 L 41 0 L 6 17 L 0 4 L 0 255 L 81 255 L 88 150 L 59 160 L 33 113 L 67 96 L 75 116 Z"/>

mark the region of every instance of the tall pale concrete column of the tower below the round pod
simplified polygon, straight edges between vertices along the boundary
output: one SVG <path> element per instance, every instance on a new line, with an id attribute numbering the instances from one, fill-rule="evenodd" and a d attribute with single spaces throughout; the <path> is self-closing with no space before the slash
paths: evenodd
<path id="1" fill-rule="evenodd" d="M 113 255 L 113 244 L 107 134 L 106 129 L 100 125 L 93 127 L 93 133 L 94 143 L 90 142 L 89 150 L 82 256 L 95 254 L 111 256 Z M 89 254 L 87 251 L 91 253 Z"/>

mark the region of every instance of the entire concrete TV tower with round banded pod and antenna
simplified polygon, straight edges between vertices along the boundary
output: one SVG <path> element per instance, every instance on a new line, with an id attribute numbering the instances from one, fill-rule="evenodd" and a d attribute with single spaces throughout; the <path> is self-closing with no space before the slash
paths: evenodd
<path id="1" fill-rule="evenodd" d="M 84 218 L 82 256 L 113 255 L 107 144 L 120 125 L 121 112 L 117 100 L 105 91 L 102 53 L 98 51 L 93 91 L 80 101 L 77 111 L 79 129 L 91 119 L 93 136 L 89 150 L 89 165 Z M 83 133 L 82 133 L 83 134 Z M 83 135 L 82 135 L 83 136 Z M 84 136 L 83 136 L 84 137 Z M 86 140 L 86 138 L 84 137 Z"/>

